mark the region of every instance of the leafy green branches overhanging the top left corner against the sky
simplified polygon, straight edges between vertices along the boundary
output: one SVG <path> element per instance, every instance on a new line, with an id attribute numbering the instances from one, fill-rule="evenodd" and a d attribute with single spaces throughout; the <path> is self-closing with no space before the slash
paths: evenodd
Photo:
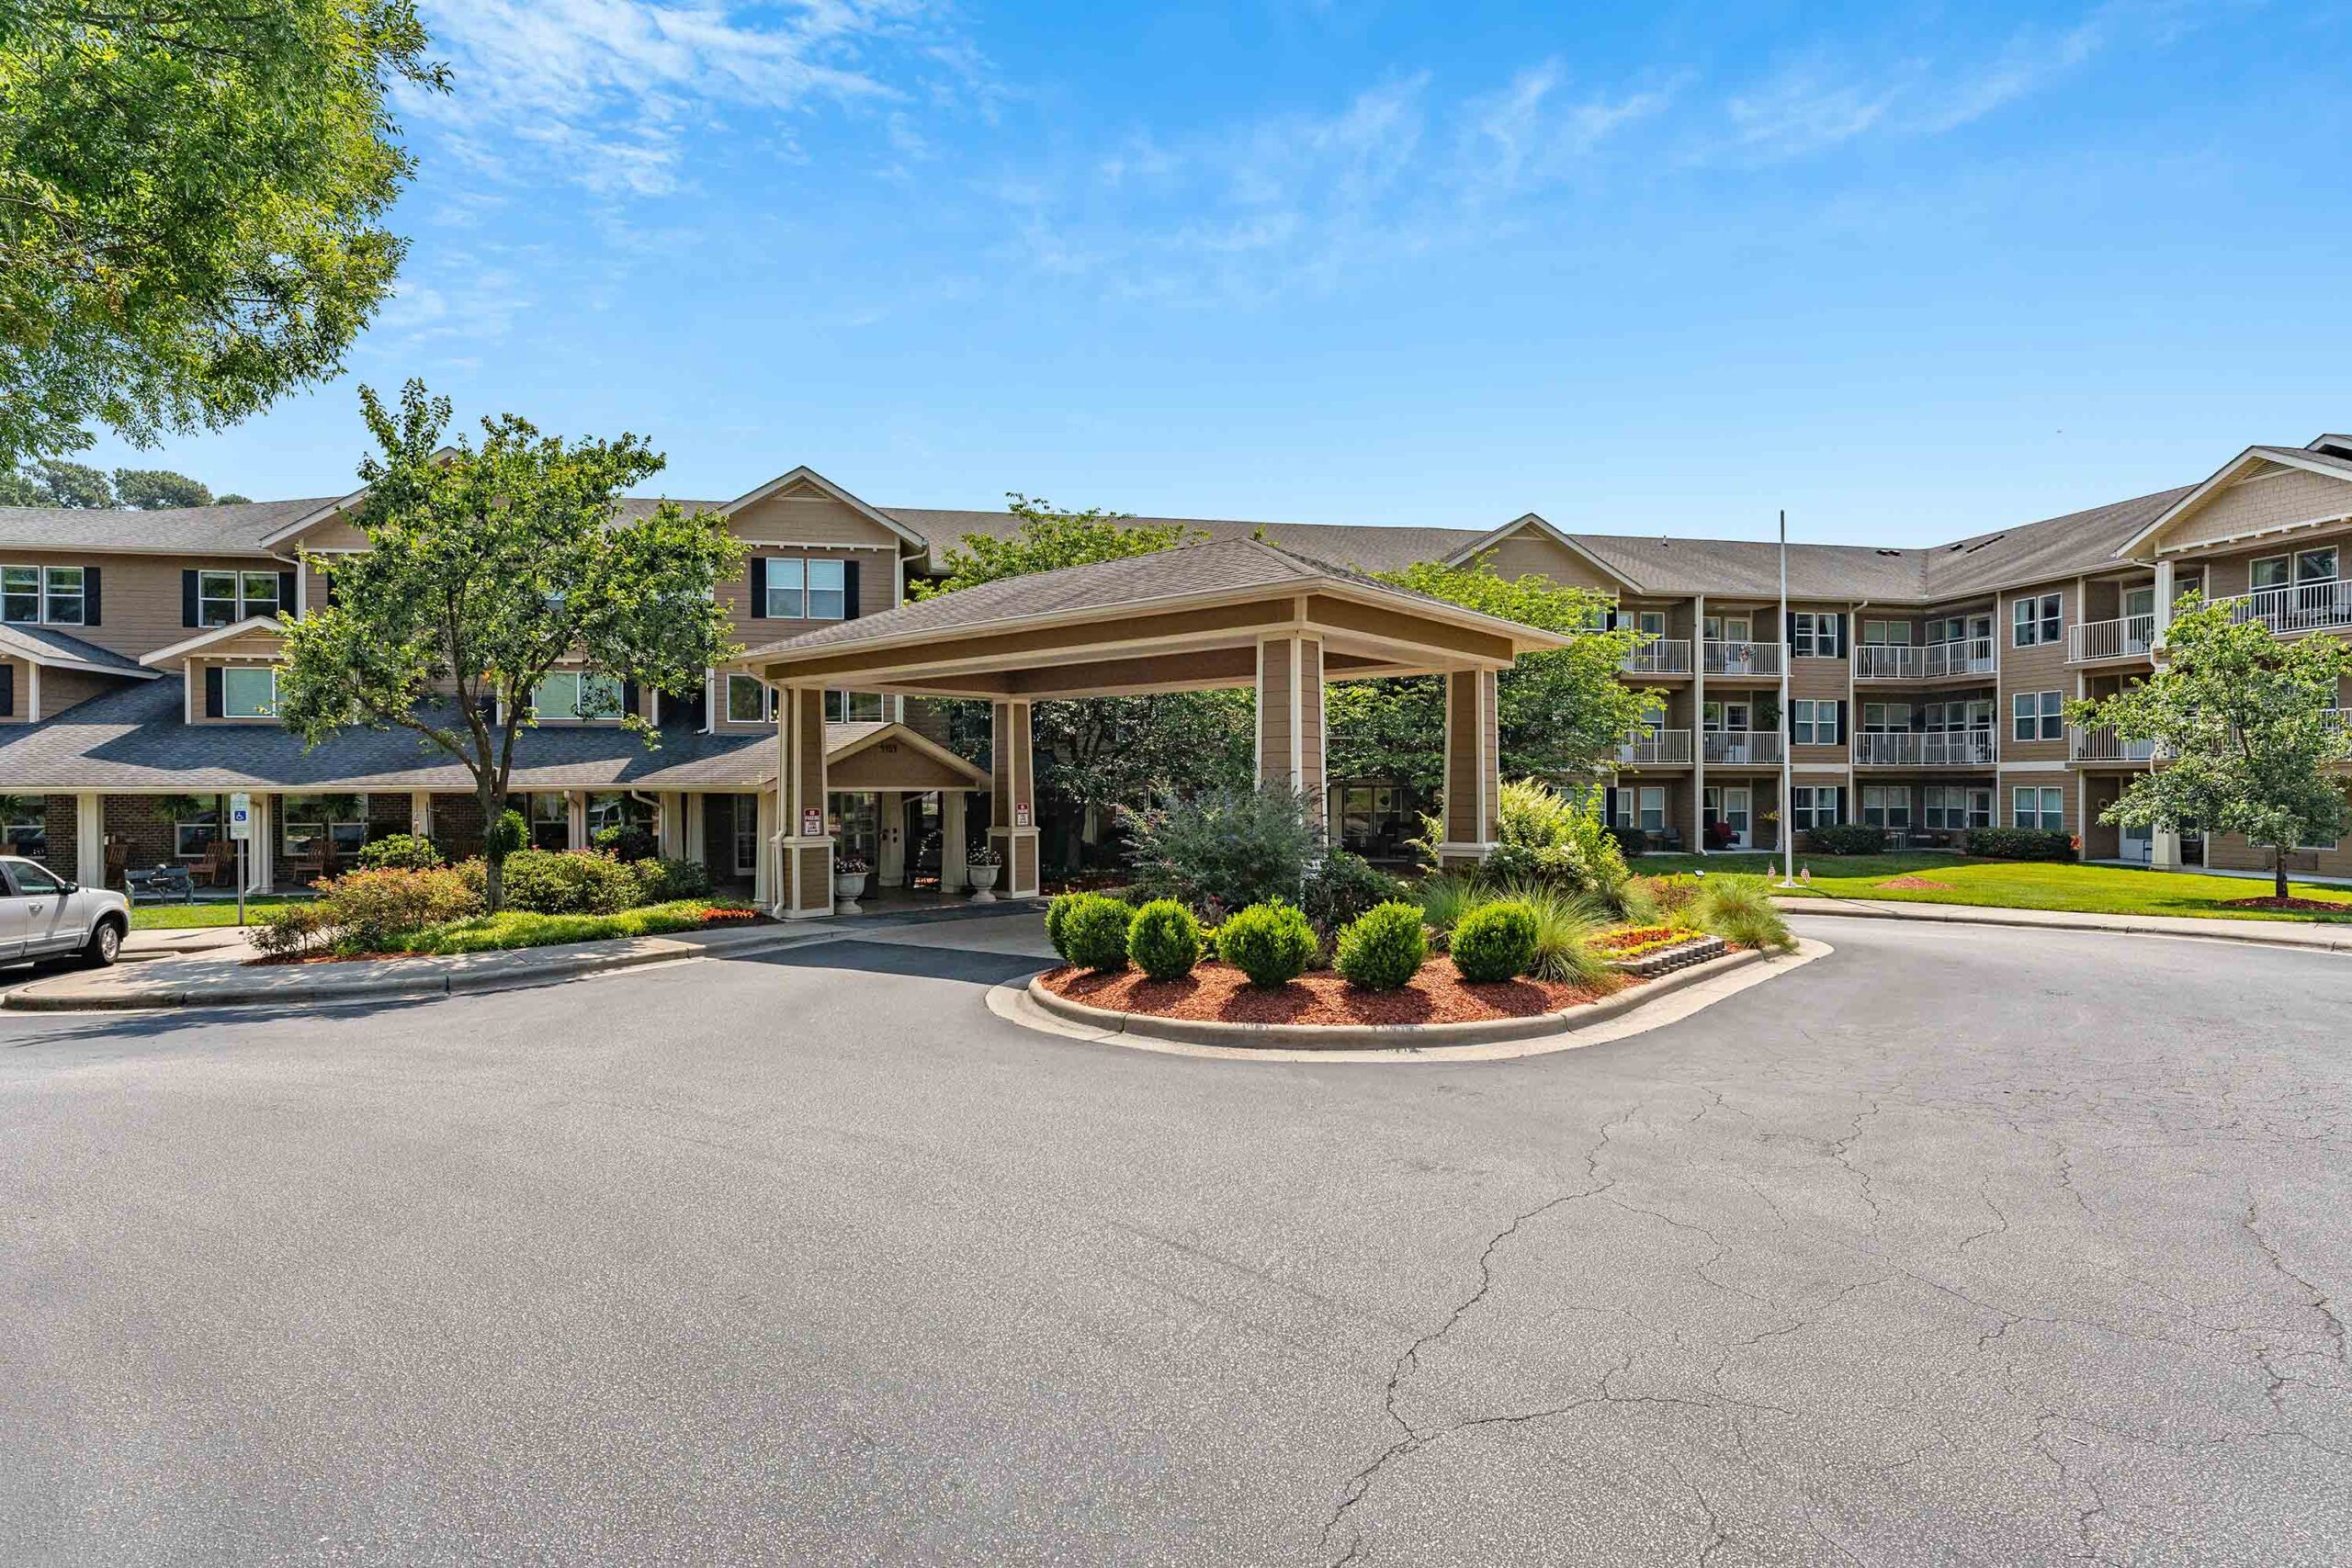
<path id="1" fill-rule="evenodd" d="M 383 303 L 414 0 L 0 5 L 0 465 L 219 428 Z"/>

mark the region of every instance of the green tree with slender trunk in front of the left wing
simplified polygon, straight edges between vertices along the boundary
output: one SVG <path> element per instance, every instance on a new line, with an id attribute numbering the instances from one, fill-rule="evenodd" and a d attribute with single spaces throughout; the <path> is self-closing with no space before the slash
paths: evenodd
<path id="1" fill-rule="evenodd" d="M 743 571 L 724 520 L 668 501 L 619 520 L 619 496 L 663 465 L 635 435 L 567 444 L 506 414 L 482 421 L 480 447 L 445 449 L 449 402 L 421 383 L 397 414 L 367 388 L 360 402 L 383 447 L 360 465 L 353 522 L 369 548 L 306 552 L 334 597 L 285 625 L 278 717 L 306 745 L 353 724 L 409 729 L 466 764 L 494 827 L 548 670 L 677 691 L 741 651 L 713 597 Z M 659 745 L 640 715 L 621 722 Z M 508 849 L 485 835 L 492 910 Z"/>

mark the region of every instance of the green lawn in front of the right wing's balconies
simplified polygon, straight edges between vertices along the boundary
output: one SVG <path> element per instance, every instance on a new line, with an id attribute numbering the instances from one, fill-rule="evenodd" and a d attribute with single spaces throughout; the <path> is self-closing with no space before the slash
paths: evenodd
<path id="1" fill-rule="evenodd" d="M 2150 872 L 2129 865 L 2070 865 L 2056 860 L 1966 860 L 1962 856 L 1797 856 L 1811 867 L 1813 898 L 1872 898 L 1884 903 L 1973 903 L 1999 910 L 2074 910 L 2089 914 L 2192 914 L 2206 919 L 2312 919 L 2352 922 L 2352 886 L 2293 884 L 2298 898 L 2326 898 L 2343 914 L 2296 914 L 2284 910 L 2232 910 L 2237 898 L 2263 898 L 2270 882 L 2206 877 L 2201 872 Z M 1752 872 L 1778 875 L 1780 856 L 1635 856 L 1632 870 L 1658 872 Z M 1943 882 L 1940 889 L 1891 889 L 1891 877 Z"/>

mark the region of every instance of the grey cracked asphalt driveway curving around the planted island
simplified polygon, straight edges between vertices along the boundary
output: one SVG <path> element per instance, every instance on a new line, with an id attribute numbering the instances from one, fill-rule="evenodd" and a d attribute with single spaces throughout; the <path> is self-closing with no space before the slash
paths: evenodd
<path id="1" fill-rule="evenodd" d="M 9 1563 L 2343 1563 L 2352 961 L 1813 922 L 1209 1063 L 1023 922 L 0 1016 Z"/>

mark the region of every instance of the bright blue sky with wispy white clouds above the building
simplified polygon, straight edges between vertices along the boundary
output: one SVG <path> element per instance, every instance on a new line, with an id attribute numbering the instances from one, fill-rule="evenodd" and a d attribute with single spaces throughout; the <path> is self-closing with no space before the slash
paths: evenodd
<path id="1" fill-rule="evenodd" d="M 353 386 L 896 505 L 1931 543 L 2352 428 L 2343 5 L 426 0 Z"/>

